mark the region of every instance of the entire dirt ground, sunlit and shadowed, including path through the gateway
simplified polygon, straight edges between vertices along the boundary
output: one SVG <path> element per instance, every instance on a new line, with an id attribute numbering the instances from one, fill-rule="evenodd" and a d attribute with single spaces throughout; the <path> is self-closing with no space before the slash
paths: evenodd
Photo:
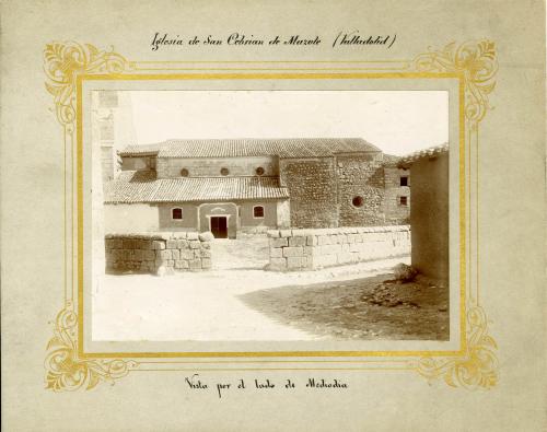
<path id="1" fill-rule="evenodd" d="M 392 280 L 409 257 L 275 272 L 264 270 L 266 236 L 216 240 L 211 248 L 210 271 L 97 280 L 93 339 L 449 339 L 449 290 Z"/>

